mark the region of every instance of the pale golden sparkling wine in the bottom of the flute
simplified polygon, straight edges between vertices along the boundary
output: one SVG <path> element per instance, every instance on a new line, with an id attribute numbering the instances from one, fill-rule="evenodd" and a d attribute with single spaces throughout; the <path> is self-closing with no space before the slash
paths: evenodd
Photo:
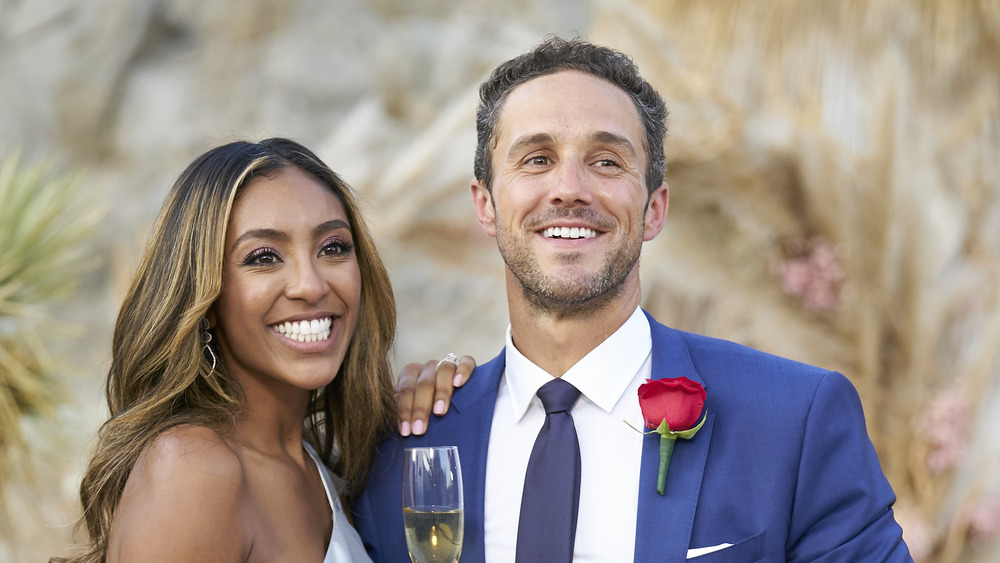
<path id="1" fill-rule="evenodd" d="M 465 518 L 461 509 L 403 509 L 406 545 L 413 563 L 455 563 L 462 554 Z"/>

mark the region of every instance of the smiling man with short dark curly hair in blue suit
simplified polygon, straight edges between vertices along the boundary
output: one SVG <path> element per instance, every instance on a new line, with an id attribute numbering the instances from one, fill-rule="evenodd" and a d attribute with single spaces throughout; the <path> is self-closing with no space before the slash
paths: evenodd
<path id="1" fill-rule="evenodd" d="M 673 330 L 639 307 L 640 250 L 669 202 L 666 109 L 628 57 L 553 38 L 502 64 L 480 94 L 471 191 L 506 263 L 507 343 L 426 434 L 376 453 L 355 503 L 373 558 L 407 558 L 391 512 L 402 448 L 457 445 L 463 561 L 909 561 L 846 378 Z M 639 386 L 674 378 L 707 399 L 660 494 L 660 436 L 629 425 L 643 424 Z M 543 409 L 555 379 L 581 395 Z M 539 475 L 536 462 L 565 444 Z M 578 477 L 538 485 L 576 456 Z"/>

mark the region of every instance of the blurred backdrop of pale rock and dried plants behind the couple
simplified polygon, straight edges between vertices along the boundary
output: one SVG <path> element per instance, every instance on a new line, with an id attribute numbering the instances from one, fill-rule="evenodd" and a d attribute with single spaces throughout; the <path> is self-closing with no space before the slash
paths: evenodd
<path id="1" fill-rule="evenodd" d="M 644 306 L 842 371 L 914 557 L 1000 560 L 996 0 L 0 0 L 0 560 L 73 541 L 118 303 L 213 146 L 291 137 L 357 188 L 397 367 L 493 357 L 476 88 L 549 33 L 670 108 Z"/>

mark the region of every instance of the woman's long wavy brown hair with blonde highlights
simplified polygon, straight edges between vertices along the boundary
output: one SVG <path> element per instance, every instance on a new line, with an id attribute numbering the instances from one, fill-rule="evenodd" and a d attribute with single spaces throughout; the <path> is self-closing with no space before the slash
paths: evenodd
<path id="1" fill-rule="evenodd" d="M 219 297 L 233 202 L 254 178 L 295 167 L 344 206 L 361 271 L 361 312 L 340 371 L 310 394 L 307 439 L 350 494 L 395 414 L 388 353 L 396 307 L 388 273 L 350 187 L 305 147 L 287 139 L 235 142 L 196 159 L 170 190 L 115 323 L 106 393 L 110 418 L 80 485 L 89 536 L 71 561 L 103 561 L 115 509 L 139 454 L 164 431 L 200 424 L 220 431 L 245 408 L 224 365 L 212 370 L 200 321 Z M 216 356 L 219 353 L 215 352 Z"/>

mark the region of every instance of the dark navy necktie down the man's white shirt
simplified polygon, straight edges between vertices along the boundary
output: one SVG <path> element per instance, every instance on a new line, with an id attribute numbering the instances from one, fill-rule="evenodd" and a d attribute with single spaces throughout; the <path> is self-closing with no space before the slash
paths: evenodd
<path id="1" fill-rule="evenodd" d="M 517 524 L 517 563 L 570 563 L 580 508 L 580 442 L 569 410 L 580 391 L 555 378 L 538 390 L 545 424 L 528 459 Z"/>

